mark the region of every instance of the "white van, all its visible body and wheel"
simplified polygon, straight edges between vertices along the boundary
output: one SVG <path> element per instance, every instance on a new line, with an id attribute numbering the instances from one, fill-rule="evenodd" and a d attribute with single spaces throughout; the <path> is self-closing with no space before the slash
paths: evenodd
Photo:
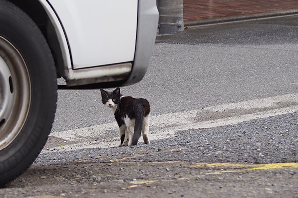
<path id="1" fill-rule="evenodd" d="M 0 0 L 0 186 L 46 143 L 56 78 L 76 88 L 140 81 L 157 24 L 156 0 Z"/>

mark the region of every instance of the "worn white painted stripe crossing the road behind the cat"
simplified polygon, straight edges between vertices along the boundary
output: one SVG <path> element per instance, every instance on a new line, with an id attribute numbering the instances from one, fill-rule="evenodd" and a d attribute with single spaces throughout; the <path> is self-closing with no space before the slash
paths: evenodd
<path id="1" fill-rule="evenodd" d="M 228 113 L 230 111 L 236 116 L 230 117 L 230 114 Z M 296 111 L 298 111 L 298 93 L 212 106 L 198 110 L 151 116 L 149 139 L 156 140 L 168 138 L 180 130 L 233 125 L 244 121 L 283 115 Z M 202 121 L 200 120 L 199 115 L 204 115 L 204 119 L 206 119 L 206 117 L 211 119 Z M 216 117 L 221 118 L 214 119 Z M 110 137 L 109 139 L 94 141 L 94 139 L 97 139 L 107 131 L 113 131 L 115 136 Z M 53 132 L 50 135 L 67 141 L 75 141 L 77 143 L 56 148 L 46 148 L 44 150 L 45 152 L 47 149 L 69 151 L 82 148 L 113 147 L 117 146 L 120 141 L 118 137 L 118 125 L 116 122 L 63 132 Z"/>

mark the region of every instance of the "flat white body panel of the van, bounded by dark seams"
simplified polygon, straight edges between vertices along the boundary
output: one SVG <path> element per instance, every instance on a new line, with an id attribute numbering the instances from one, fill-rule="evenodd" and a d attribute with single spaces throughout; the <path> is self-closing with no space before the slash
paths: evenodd
<path id="1" fill-rule="evenodd" d="M 48 0 L 67 35 L 73 68 L 134 60 L 138 0 Z"/>

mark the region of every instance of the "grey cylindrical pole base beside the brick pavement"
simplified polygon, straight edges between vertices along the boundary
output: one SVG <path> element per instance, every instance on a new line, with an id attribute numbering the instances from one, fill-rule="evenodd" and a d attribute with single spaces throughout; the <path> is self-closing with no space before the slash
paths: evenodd
<path id="1" fill-rule="evenodd" d="M 183 31 L 183 0 L 157 0 L 159 34 Z"/>

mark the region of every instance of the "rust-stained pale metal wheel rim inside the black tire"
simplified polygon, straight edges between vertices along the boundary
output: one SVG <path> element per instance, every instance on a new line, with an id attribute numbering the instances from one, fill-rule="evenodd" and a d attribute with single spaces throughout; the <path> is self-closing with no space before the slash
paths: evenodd
<path id="1" fill-rule="evenodd" d="M 29 72 L 22 55 L 0 36 L 0 151 L 21 132 L 31 102 Z"/>

